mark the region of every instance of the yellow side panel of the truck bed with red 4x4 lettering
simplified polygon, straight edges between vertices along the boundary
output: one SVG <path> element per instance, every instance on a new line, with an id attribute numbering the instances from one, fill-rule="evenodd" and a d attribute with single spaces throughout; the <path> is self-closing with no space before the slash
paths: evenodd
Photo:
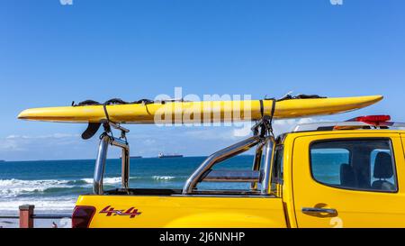
<path id="1" fill-rule="evenodd" d="M 286 227 L 281 198 L 209 196 L 80 196 L 76 205 L 96 212 L 90 227 L 206 228 Z M 106 207 L 136 216 L 100 213 Z"/>

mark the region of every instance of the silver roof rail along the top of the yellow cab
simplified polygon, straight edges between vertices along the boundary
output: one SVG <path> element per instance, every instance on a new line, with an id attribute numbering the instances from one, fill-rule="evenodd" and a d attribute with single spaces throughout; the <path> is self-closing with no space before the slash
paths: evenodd
<path id="1" fill-rule="evenodd" d="M 385 122 L 379 125 L 364 122 L 326 122 L 326 123 L 302 123 L 295 126 L 293 132 L 311 132 L 311 131 L 332 131 L 350 129 L 398 129 L 405 128 L 405 123 Z"/>

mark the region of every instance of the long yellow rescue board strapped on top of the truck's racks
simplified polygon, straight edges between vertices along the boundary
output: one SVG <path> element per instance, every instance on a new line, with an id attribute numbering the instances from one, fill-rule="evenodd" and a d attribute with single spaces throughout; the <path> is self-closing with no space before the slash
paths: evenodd
<path id="1" fill-rule="evenodd" d="M 373 105 L 383 96 L 290 99 L 275 103 L 275 119 L 339 114 Z M 255 121 L 271 115 L 272 100 L 167 102 L 107 105 L 114 123 L 219 123 Z M 59 123 L 100 123 L 103 105 L 43 107 L 24 110 L 19 119 Z"/>

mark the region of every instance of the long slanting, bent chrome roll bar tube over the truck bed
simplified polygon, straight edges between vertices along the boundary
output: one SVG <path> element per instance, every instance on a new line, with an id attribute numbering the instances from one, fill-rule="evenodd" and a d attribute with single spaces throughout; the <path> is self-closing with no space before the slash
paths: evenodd
<path id="1" fill-rule="evenodd" d="M 260 141 L 261 138 L 259 136 L 253 136 L 248 138 L 247 140 L 239 141 L 238 143 L 235 143 L 223 150 L 219 150 L 213 153 L 210 157 L 205 159 L 204 162 L 202 162 L 201 166 L 193 172 L 190 178 L 187 179 L 183 187 L 183 195 L 192 194 L 194 187 L 199 181 L 201 181 L 202 177 L 207 173 L 207 171 L 211 169 L 211 167 L 215 163 L 250 150 Z"/>

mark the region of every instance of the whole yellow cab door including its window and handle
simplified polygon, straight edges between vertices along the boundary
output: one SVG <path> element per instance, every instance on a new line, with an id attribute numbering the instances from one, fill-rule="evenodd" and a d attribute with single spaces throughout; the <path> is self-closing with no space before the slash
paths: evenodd
<path id="1" fill-rule="evenodd" d="M 293 200 L 299 227 L 405 227 L 405 163 L 397 133 L 298 137 Z"/>

